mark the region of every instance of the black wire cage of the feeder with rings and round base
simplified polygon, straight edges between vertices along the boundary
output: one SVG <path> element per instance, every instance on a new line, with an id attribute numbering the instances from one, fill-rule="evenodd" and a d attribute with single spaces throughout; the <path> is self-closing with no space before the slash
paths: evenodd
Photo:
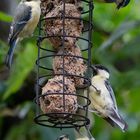
<path id="1" fill-rule="evenodd" d="M 37 47 L 38 47 L 38 58 L 36 60 L 36 65 L 37 65 L 37 86 L 36 86 L 36 97 L 35 97 L 35 103 L 37 105 L 37 111 L 36 111 L 36 117 L 34 118 L 34 121 L 42 126 L 47 126 L 47 127 L 54 127 L 54 128 L 79 128 L 82 126 L 86 126 L 90 123 L 90 120 L 88 119 L 88 106 L 90 104 L 90 100 L 89 100 L 89 93 L 87 92 L 87 96 L 83 96 L 83 95 L 79 95 L 79 94 L 66 94 L 64 93 L 64 89 L 63 89 L 63 93 L 48 93 L 48 94 L 44 94 L 41 95 L 41 88 L 42 88 L 42 84 L 40 84 L 40 79 L 41 78 L 46 78 L 47 80 L 49 79 L 48 77 L 51 76 L 56 76 L 56 75 L 62 75 L 63 76 L 63 85 L 65 84 L 65 77 L 68 76 L 74 76 L 74 77 L 79 77 L 79 78 L 83 78 L 84 79 L 84 85 L 82 85 L 81 87 L 77 87 L 77 89 L 84 89 L 90 86 L 90 72 L 91 72 L 91 48 L 92 48 L 92 29 L 93 29 L 93 24 L 92 24 L 92 13 L 93 13 L 93 1 L 92 0 L 81 0 L 81 2 L 85 2 L 88 5 L 88 10 L 86 11 L 82 11 L 81 14 L 88 14 L 88 20 L 82 19 L 82 17 L 76 18 L 76 17 L 68 17 L 65 16 L 65 0 L 63 0 L 63 16 L 61 17 L 63 23 L 63 34 L 60 35 L 59 37 L 62 38 L 62 48 L 64 49 L 65 47 L 65 37 L 71 37 L 71 38 L 76 38 L 77 40 L 83 40 L 85 42 L 87 42 L 87 48 L 81 49 L 82 52 L 87 52 L 87 57 L 88 58 L 84 58 L 84 57 L 80 57 L 80 56 L 73 56 L 73 55 L 65 55 L 64 53 L 61 54 L 61 56 L 63 56 L 63 67 L 64 66 L 64 57 L 68 56 L 68 57 L 76 57 L 79 59 L 82 59 L 86 64 L 87 64 L 87 76 L 79 76 L 79 75 L 71 75 L 71 74 L 66 74 L 63 70 L 62 74 L 54 74 L 53 73 L 53 69 L 49 68 L 47 66 L 43 66 L 41 65 L 41 61 L 45 58 L 53 58 L 55 56 L 60 56 L 57 54 L 47 54 L 47 52 L 51 52 L 51 53 L 55 53 L 55 50 L 52 49 L 48 49 L 48 48 L 43 48 L 41 43 L 44 39 L 48 39 L 51 37 L 58 37 L 57 35 L 53 35 L 53 36 L 47 36 L 47 35 L 42 35 L 42 31 L 43 31 L 43 25 L 42 23 L 48 19 L 53 19 L 56 20 L 60 17 L 43 17 L 40 19 L 38 28 L 39 28 L 39 35 L 38 35 L 38 41 L 37 41 Z M 69 36 L 65 34 L 65 20 L 66 19 L 71 19 L 71 20 L 81 20 L 82 22 L 85 22 L 88 25 L 87 29 L 83 29 L 82 33 L 84 32 L 88 32 L 88 38 L 84 38 L 84 37 L 80 37 L 80 36 Z M 45 56 L 41 56 L 41 51 L 45 51 L 47 55 Z M 40 70 L 48 70 L 51 71 L 51 74 L 44 74 L 41 75 L 40 74 Z M 64 88 L 64 86 L 63 86 Z M 63 95 L 63 104 L 64 104 L 64 112 L 61 113 L 42 113 L 40 111 L 40 101 L 39 99 L 43 96 L 49 96 L 49 95 L 53 95 L 53 94 L 61 94 Z M 72 96 L 77 96 L 78 98 L 83 98 L 86 100 L 86 104 L 85 105 L 80 105 L 78 106 L 78 108 L 82 111 L 84 111 L 84 115 L 81 114 L 73 114 L 73 113 L 68 113 L 65 112 L 65 95 L 72 95 Z M 64 117 L 58 117 L 57 115 L 61 114 Z"/>

